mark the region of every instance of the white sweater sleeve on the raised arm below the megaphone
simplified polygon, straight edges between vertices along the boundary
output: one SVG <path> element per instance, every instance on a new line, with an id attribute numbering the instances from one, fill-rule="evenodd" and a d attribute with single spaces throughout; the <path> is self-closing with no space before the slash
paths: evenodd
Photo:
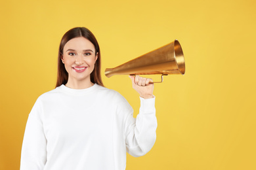
<path id="1" fill-rule="evenodd" d="M 157 126 L 155 97 L 152 99 L 140 97 L 140 110 L 137 118 L 129 114 L 125 120 L 127 152 L 135 157 L 149 152 L 156 141 Z"/>

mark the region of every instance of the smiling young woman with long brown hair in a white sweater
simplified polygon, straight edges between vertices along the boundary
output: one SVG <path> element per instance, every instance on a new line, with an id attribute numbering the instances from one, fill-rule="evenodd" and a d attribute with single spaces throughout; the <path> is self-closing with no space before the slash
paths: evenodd
<path id="1" fill-rule="evenodd" d="M 85 27 L 60 42 L 56 88 L 41 95 L 28 117 L 21 170 L 123 170 L 126 152 L 146 154 L 156 141 L 151 79 L 130 76 L 140 95 L 133 109 L 100 77 L 100 48 Z"/>

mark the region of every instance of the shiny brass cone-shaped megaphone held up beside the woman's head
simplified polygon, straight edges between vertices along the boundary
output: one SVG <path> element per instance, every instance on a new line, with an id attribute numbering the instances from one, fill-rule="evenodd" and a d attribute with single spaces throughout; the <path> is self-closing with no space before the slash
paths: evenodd
<path id="1" fill-rule="evenodd" d="M 181 44 L 175 40 L 152 52 L 132 59 L 112 69 L 106 69 L 107 77 L 114 75 L 184 75 L 185 60 Z"/>

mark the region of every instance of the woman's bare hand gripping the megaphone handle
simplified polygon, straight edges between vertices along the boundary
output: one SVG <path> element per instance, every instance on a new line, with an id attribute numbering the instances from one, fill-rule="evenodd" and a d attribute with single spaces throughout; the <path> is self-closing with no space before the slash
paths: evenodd
<path id="1" fill-rule="evenodd" d="M 144 99 L 150 99 L 154 97 L 154 84 L 150 84 L 150 82 L 153 82 L 151 78 L 144 78 L 138 75 L 130 75 L 129 77 L 133 83 L 133 88 L 140 94 L 140 97 Z"/>

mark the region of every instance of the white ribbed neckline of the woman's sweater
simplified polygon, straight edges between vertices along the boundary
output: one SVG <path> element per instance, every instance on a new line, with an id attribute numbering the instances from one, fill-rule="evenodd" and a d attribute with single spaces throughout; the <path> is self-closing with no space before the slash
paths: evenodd
<path id="1" fill-rule="evenodd" d="M 96 88 L 98 87 L 98 84 L 93 84 L 93 86 L 89 87 L 89 88 L 85 88 L 85 89 L 73 89 L 73 88 L 68 88 L 67 86 L 65 86 L 64 84 L 62 84 L 61 86 L 59 86 L 58 88 L 65 93 L 71 94 L 71 95 L 85 95 L 87 93 L 91 93 L 94 92 L 96 90 Z"/>

